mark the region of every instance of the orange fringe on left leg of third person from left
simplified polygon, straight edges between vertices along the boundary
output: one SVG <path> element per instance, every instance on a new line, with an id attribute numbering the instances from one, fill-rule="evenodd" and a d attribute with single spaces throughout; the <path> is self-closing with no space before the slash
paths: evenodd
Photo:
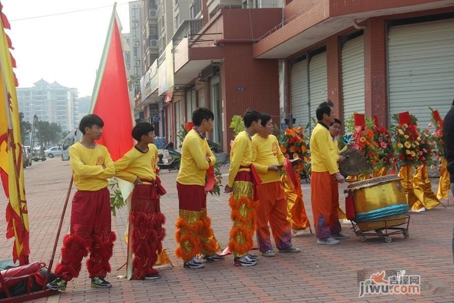
<path id="1" fill-rule="evenodd" d="M 175 239 L 177 240 L 177 243 L 180 244 L 175 250 L 175 255 L 177 256 L 177 258 L 183 259 L 183 261 L 186 262 L 201 254 L 202 245 L 200 239 L 200 230 L 203 228 L 203 226 L 204 222 L 202 220 L 196 221 L 192 225 L 192 227 L 184 218 L 179 218 L 177 220 L 177 223 L 175 223 L 175 227 L 177 227 Z M 188 246 L 188 248 L 190 248 L 190 251 L 186 252 L 184 246 Z"/>

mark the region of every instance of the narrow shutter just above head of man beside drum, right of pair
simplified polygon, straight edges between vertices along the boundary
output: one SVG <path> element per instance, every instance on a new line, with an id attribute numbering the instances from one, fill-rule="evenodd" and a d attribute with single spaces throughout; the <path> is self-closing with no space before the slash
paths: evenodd
<path id="1" fill-rule="evenodd" d="M 317 54 L 309 61 L 309 109 L 312 118 L 320 103 L 327 100 L 328 75 L 326 72 L 326 52 Z M 312 123 L 312 122 L 311 122 Z"/>

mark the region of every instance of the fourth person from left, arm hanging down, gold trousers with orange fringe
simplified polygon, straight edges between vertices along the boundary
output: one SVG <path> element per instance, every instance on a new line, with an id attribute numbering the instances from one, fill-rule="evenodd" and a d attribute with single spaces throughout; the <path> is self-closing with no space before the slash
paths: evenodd
<path id="1" fill-rule="evenodd" d="M 252 136 L 260 129 L 261 116 L 256 111 L 247 111 L 243 115 L 246 129 L 240 132 L 230 151 L 229 183 L 225 193 L 231 193 L 229 205 L 233 226 L 230 231 L 229 250 L 234 254 L 235 266 L 252 266 L 258 257 L 249 254 L 254 242 L 252 236 L 256 227 L 257 191 L 254 185 L 260 183 L 252 165 Z"/>

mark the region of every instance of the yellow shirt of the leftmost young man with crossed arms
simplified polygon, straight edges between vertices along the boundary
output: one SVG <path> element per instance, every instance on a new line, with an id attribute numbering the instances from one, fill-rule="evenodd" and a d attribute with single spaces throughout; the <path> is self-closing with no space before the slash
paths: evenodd
<path id="1" fill-rule="evenodd" d="M 96 147 L 91 149 L 77 142 L 70 147 L 69 155 L 78 190 L 102 189 L 107 186 L 107 179 L 115 175 L 115 166 L 109 151 L 101 144 L 96 144 Z"/>

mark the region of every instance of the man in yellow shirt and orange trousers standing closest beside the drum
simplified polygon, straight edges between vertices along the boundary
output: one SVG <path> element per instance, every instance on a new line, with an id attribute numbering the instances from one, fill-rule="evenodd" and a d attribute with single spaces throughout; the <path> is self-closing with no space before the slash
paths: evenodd
<path id="1" fill-rule="evenodd" d="M 339 183 L 344 182 L 344 176 L 339 173 L 332 137 L 329 126 L 334 122 L 334 114 L 328 102 L 321 103 L 317 110 L 317 126 L 311 134 L 311 204 L 314 216 L 315 235 L 318 244 L 337 244 L 336 238 L 345 235 L 337 230 L 335 222 L 332 222 L 332 187 L 331 182 L 335 179 Z M 342 156 L 341 156 L 342 157 Z M 337 209 L 335 210 L 337 212 Z"/>

